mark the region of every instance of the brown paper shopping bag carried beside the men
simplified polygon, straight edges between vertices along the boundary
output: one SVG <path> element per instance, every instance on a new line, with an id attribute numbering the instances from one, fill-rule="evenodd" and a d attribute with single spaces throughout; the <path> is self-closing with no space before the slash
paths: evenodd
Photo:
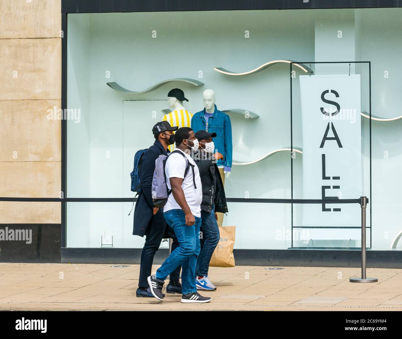
<path id="1" fill-rule="evenodd" d="M 213 251 L 209 266 L 211 267 L 234 267 L 234 238 L 236 226 L 219 227 L 219 242 Z"/>

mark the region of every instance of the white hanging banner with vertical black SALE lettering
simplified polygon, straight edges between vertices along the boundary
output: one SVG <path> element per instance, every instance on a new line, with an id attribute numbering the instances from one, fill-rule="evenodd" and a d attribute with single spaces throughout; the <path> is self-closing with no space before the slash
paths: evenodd
<path id="1" fill-rule="evenodd" d="M 360 75 L 300 76 L 300 96 L 303 198 L 358 199 L 363 195 Z M 302 220 L 313 227 L 361 224 L 355 204 L 304 204 Z"/>

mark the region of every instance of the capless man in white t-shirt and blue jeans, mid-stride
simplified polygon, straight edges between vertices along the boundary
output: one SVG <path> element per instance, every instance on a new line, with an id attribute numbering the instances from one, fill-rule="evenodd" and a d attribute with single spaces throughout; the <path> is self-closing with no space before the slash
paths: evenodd
<path id="1" fill-rule="evenodd" d="M 166 184 L 171 193 L 163 214 L 176 234 L 179 247 L 170 253 L 156 274 L 148 277 L 148 284 L 153 296 L 163 300 L 164 280 L 181 264 L 181 302 L 209 302 L 211 298 L 198 294 L 195 284 L 200 253 L 202 187 L 198 167 L 189 154 L 198 149 L 198 140 L 190 127 L 179 128 L 174 140 L 176 150 L 168 156 L 165 166 Z"/>

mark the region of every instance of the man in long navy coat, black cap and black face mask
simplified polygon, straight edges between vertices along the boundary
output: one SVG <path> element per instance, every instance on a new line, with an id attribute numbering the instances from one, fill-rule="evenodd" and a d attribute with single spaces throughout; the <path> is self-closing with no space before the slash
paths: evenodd
<path id="1" fill-rule="evenodd" d="M 139 269 L 137 297 L 154 296 L 150 292 L 147 277 L 151 275 L 154 255 L 158 251 L 160 242 L 163 238 L 172 238 L 172 251 L 178 245 L 177 238 L 173 229 L 166 224 L 163 216 L 163 209 L 155 207 L 152 202 L 152 177 L 154 176 L 155 160 L 161 154 L 167 155 L 169 145 L 174 143 L 173 131 L 178 129 L 172 127 L 168 121 L 156 123 L 152 128 L 152 133 L 156 139 L 154 144 L 146 150 L 141 159 L 141 193 L 137 197 L 134 209 L 133 235 L 146 236 L 145 244 L 141 253 L 141 265 Z M 170 273 L 169 285 L 166 286 L 167 293 L 181 294 L 181 284 L 179 281 L 181 266 Z"/>

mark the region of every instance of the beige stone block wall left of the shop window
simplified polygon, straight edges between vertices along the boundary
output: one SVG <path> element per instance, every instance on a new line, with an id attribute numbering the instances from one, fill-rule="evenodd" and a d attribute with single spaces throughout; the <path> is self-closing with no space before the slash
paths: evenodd
<path id="1" fill-rule="evenodd" d="M 60 0 L 0 0 L 0 196 L 59 197 Z M 0 223 L 60 223 L 61 204 L 0 201 Z"/>

